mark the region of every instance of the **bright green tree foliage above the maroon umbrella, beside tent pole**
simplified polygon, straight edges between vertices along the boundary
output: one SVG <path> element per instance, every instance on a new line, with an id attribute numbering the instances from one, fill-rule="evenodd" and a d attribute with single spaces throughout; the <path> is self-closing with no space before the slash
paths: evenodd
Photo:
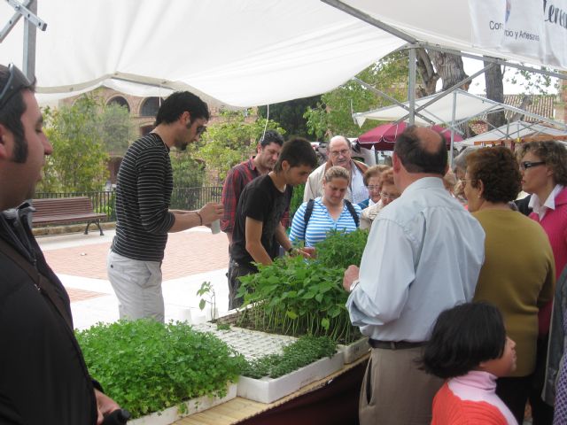
<path id="1" fill-rule="evenodd" d="M 408 52 L 392 53 L 357 75 L 362 81 L 380 89 L 398 100 L 408 98 Z M 362 128 L 354 123 L 352 113 L 369 111 L 390 104 L 383 97 L 355 81 L 325 93 L 315 108 L 307 110 L 307 128 L 318 140 L 328 135 L 356 137 L 379 125 L 379 121 L 367 120 Z"/>

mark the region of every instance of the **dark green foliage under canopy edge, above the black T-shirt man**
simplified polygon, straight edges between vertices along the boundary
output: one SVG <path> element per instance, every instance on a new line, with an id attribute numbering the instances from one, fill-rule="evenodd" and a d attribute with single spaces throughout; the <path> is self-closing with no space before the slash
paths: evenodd
<path id="1" fill-rule="evenodd" d="M 285 128 L 286 134 L 309 139 L 307 120 L 303 115 L 307 109 L 315 108 L 318 102 L 321 102 L 321 96 L 304 97 L 279 104 L 270 104 L 269 118 L 279 122 Z M 267 118 L 268 108 L 260 106 L 258 114 L 261 118 Z"/>

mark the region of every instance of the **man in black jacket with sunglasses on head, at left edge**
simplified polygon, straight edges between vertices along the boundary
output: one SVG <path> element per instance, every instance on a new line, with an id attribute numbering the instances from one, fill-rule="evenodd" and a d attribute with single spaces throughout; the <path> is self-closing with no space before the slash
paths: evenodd
<path id="1" fill-rule="evenodd" d="M 69 297 L 28 225 L 44 157 L 35 85 L 0 65 L 0 423 L 100 424 L 119 406 L 93 381 Z"/>

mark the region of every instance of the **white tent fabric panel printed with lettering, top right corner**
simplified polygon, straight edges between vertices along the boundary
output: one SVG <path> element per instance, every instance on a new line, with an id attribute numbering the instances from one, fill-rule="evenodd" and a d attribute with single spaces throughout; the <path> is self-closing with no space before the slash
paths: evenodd
<path id="1" fill-rule="evenodd" d="M 418 41 L 567 69 L 567 0 L 344 0 Z"/>

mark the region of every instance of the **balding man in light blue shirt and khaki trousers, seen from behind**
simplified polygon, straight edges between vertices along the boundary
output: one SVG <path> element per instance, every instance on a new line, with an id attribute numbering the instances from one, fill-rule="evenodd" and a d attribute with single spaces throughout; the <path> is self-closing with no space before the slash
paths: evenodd
<path id="1" fill-rule="evenodd" d="M 359 402 L 361 425 L 429 424 L 442 381 L 416 364 L 439 313 L 470 301 L 484 261 L 485 232 L 443 186 L 445 141 L 409 127 L 393 153 L 402 195 L 373 224 L 343 285 L 353 325 L 373 347 Z"/>

